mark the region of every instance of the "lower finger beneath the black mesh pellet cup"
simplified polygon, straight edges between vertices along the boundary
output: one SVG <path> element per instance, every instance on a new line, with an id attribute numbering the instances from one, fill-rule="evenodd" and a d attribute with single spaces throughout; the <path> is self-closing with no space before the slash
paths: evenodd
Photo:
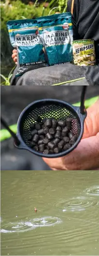
<path id="1" fill-rule="evenodd" d="M 53 170 L 94 170 L 99 168 L 99 132 L 83 139 L 68 155 L 61 158 L 43 158 Z"/>

